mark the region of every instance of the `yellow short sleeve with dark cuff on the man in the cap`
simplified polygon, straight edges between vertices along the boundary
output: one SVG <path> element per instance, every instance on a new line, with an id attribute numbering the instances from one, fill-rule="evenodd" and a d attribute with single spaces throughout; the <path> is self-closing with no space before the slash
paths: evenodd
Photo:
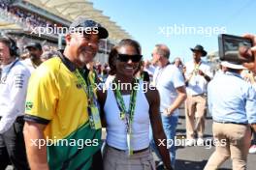
<path id="1" fill-rule="evenodd" d="M 52 119 L 58 100 L 56 73 L 47 66 L 32 73 L 28 84 L 25 121 L 47 125 Z"/>

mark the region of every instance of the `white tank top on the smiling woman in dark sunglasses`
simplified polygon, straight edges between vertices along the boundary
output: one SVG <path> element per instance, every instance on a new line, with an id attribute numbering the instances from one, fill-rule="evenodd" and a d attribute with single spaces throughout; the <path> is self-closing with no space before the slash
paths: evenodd
<path id="1" fill-rule="evenodd" d="M 144 96 L 143 90 L 143 81 L 140 81 L 132 124 L 131 147 L 134 151 L 142 150 L 149 146 L 149 104 Z M 130 95 L 123 95 L 122 97 L 125 107 L 128 109 Z M 120 150 L 128 150 L 126 125 L 120 119 L 120 110 L 111 88 L 108 89 L 104 111 L 107 121 L 107 144 Z"/>

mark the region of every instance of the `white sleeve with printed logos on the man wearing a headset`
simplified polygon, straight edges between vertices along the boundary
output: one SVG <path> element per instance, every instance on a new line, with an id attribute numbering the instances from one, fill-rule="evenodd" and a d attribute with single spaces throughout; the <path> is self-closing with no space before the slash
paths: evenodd
<path id="1" fill-rule="evenodd" d="M 4 133 L 11 128 L 16 121 L 16 117 L 19 116 L 20 113 L 24 113 L 30 72 L 24 69 L 18 69 L 10 75 L 12 79 L 7 82 L 7 86 L 10 88 L 10 104 L 0 121 L 0 133 Z"/>

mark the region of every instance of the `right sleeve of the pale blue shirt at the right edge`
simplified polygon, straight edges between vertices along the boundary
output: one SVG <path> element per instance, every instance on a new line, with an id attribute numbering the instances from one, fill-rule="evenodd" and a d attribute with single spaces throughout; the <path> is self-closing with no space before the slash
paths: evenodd
<path id="1" fill-rule="evenodd" d="M 256 124 L 256 91 L 250 86 L 245 103 L 246 115 L 249 124 Z"/>

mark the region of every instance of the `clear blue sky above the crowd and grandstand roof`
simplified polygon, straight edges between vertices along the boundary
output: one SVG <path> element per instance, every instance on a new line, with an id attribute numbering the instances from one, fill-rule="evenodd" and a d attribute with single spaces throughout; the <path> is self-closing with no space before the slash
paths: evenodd
<path id="1" fill-rule="evenodd" d="M 151 58 L 150 54 L 156 43 L 165 43 L 170 47 L 171 61 L 176 56 L 188 61 L 192 58 L 189 48 L 198 43 L 208 52 L 217 51 L 218 33 L 256 34 L 255 0 L 91 0 L 91 2 L 96 9 L 110 16 L 112 21 L 141 43 L 144 58 L 147 59 Z M 188 27 L 193 29 L 189 31 Z"/>

